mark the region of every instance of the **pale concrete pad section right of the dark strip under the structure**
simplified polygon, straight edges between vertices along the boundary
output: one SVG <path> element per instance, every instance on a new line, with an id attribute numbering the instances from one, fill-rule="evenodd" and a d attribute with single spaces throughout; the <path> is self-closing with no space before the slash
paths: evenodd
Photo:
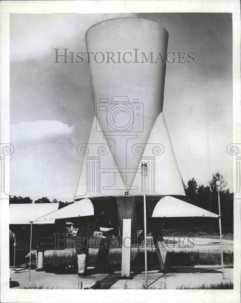
<path id="1" fill-rule="evenodd" d="M 220 266 L 174 266 L 175 272 L 162 274 L 158 271 L 148 271 L 148 288 L 149 289 L 176 289 L 180 286 L 198 287 L 203 284 L 217 284 L 222 281 L 233 282 L 233 268 L 224 268 L 224 278 L 222 269 L 215 269 L 213 271 L 205 271 L 208 269 L 219 268 Z M 119 280 L 111 289 L 140 289 L 145 285 L 145 272 L 134 276 L 132 280 Z"/>

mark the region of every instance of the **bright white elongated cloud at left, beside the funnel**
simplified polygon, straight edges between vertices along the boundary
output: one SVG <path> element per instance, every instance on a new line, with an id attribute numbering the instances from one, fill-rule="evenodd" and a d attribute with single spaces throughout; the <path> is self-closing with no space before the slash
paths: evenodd
<path id="1" fill-rule="evenodd" d="M 11 142 L 42 142 L 72 134 L 73 126 L 56 120 L 22 121 L 10 125 Z"/>

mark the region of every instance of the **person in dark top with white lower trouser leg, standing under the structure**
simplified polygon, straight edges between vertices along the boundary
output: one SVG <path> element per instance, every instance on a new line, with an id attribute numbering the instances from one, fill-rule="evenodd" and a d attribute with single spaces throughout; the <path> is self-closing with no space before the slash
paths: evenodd
<path id="1" fill-rule="evenodd" d="M 98 221 L 94 216 L 79 218 L 78 231 L 76 234 L 76 254 L 78 258 L 78 276 L 86 276 L 87 262 L 89 257 L 88 238 L 94 231 L 109 231 L 113 228 L 103 228 L 98 226 Z"/>

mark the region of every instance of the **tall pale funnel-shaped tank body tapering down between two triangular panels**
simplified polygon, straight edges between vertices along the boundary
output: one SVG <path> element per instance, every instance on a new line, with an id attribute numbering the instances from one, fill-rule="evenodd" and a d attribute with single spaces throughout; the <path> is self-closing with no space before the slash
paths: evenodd
<path id="1" fill-rule="evenodd" d="M 156 61 L 159 52 L 165 56 L 167 30 L 157 22 L 142 18 L 111 19 L 88 29 L 86 45 L 88 52 L 104 53 L 105 62 L 108 59 L 106 52 L 114 53 L 114 62 L 121 62 L 114 63 L 109 59 L 110 63 L 89 65 L 95 113 L 101 130 L 121 145 L 127 139 L 134 144 L 134 135 L 138 136 L 139 142 L 147 142 L 156 118 L 162 112 L 166 66 L 165 63 L 146 63 L 146 59 Z M 111 56 L 110 53 L 109 58 Z M 102 55 L 98 54 L 96 59 L 101 61 Z M 110 148 L 117 166 L 126 168 L 125 153 L 115 152 L 113 144 Z M 133 168 L 139 164 L 137 157 L 130 161 Z M 124 181 L 124 172 L 121 177 Z M 130 184 L 133 175 L 128 177 Z"/>

